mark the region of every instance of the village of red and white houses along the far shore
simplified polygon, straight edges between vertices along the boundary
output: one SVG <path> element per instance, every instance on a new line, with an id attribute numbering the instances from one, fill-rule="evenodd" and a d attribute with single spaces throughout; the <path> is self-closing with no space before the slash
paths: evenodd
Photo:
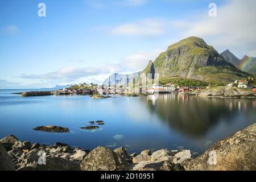
<path id="1" fill-rule="evenodd" d="M 253 79 L 253 78 L 248 78 Z M 226 85 L 228 87 L 233 88 L 245 88 L 251 89 L 253 92 L 256 92 L 255 85 L 249 85 L 249 82 L 246 80 L 236 80 L 233 83 Z M 154 93 L 188 93 L 193 90 L 201 90 L 201 89 L 209 89 L 211 85 L 208 86 L 179 86 L 173 84 L 172 82 L 167 83 L 165 85 L 146 85 L 138 86 L 138 88 L 134 86 L 102 86 L 97 84 L 77 84 L 73 85 L 70 88 L 64 88 L 61 90 L 55 90 L 52 92 L 53 95 L 69 95 L 69 94 L 81 94 L 81 95 L 93 95 L 93 94 L 154 94 Z"/>

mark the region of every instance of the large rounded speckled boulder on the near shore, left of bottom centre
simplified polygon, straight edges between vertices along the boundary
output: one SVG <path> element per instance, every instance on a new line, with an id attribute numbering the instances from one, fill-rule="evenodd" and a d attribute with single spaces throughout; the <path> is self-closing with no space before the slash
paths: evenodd
<path id="1" fill-rule="evenodd" d="M 113 150 L 97 147 L 81 163 L 82 171 L 122 171 L 128 170 L 128 164 Z"/>

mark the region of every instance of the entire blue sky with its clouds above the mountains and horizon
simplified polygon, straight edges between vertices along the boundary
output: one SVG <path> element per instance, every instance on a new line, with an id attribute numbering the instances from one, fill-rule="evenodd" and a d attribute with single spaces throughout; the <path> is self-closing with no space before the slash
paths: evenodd
<path id="1" fill-rule="evenodd" d="M 38 16 L 39 3 L 46 16 Z M 0 89 L 101 83 L 142 71 L 188 36 L 219 53 L 255 57 L 255 7 L 255 0 L 1 0 Z"/>

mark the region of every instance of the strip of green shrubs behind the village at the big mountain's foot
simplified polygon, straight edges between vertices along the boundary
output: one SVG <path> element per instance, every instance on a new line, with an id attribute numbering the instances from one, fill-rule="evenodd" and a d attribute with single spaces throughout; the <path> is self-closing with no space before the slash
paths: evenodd
<path id="1" fill-rule="evenodd" d="M 179 86 L 208 86 L 207 82 L 195 80 L 192 78 L 183 78 L 179 76 L 160 78 L 159 83 L 161 85 L 173 83 Z"/>

